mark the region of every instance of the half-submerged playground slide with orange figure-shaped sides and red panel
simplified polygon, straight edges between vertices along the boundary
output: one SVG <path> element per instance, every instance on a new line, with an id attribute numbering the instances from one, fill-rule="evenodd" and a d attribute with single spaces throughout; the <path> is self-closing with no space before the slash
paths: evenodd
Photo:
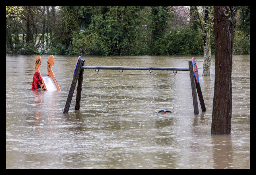
<path id="1" fill-rule="evenodd" d="M 35 60 L 35 74 L 32 82 L 32 89 L 42 89 L 43 91 L 60 91 L 55 74 L 53 73 L 51 66 L 54 64 L 54 57 L 50 55 L 47 61 L 48 75 L 42 76 L 39 71 L 39 66 L 42 63 L 41 56 L 37 56 Z"/>

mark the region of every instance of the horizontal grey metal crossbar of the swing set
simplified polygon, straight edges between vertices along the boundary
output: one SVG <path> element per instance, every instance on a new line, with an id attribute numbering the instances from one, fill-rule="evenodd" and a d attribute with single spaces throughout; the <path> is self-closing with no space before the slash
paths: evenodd
<path id="1" fill-rule="evenodd" d="M 101 69 L 101 70 L 177 70 L 189 71 L 189 68 L 172 67 L 133 67 L 133 66 L 81 66 L 81 69 Z"/>

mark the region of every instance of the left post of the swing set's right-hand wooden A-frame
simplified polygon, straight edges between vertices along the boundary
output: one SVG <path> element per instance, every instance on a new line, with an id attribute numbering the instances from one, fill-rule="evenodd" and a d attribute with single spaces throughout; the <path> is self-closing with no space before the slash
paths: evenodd
<path id="1" fill-rule="evenodd" d="M 199 114 L 198 104 L 197 104 L 197 90 L 196 90 L 197 88 L 196 88 L 195 76 L 194 76 L 194 72 L 193 72 L 192 61 L 189 61 L 189 75 L 190 75 L 190 81 L 191 81 L 194 114 Z"/>

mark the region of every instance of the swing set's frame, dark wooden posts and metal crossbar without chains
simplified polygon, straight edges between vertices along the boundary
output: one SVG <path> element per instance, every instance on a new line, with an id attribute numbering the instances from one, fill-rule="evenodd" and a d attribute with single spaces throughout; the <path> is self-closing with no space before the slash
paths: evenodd
<path id="1" fill-rule="evenodd" d="M 176 70 L 176 71 L 189 71 L 190 82 L 191 82 L 191 90 L 192 90 L 192 98 L 193 98 L 193 106 L 194 106 L 194 114 L 199 114 L 198 104 L 197 104 L 197 94 L 199 97 L 200 105 L 202 111 L 206 111 L 205 103 L 203 99 L 203 94 L 201 91 L 201 87 L 199 82 L 196 82 L 194 72 L 193 72 L 193 63 L 189 61 L 189 68 L 172 68 L 172 67 L 129 67 L 129 66 L 84 66 L 84 60 L 80 59 L 77 61 L 77 71 L 74 72 L 73 81 L 70 86 L 69 95 L 67 97 L 66 105 L 63 113 L 68 113 L 69 107 L 71 104 L 71 100 L 73 97 L 73 93 L 75 91 L 76 84 L 77 85 L 77 98 L 75 110 L 79 110 L 80 108 L 80 98 L 82 91 L 82 79 L 83 79 L 83 70 L 84 69 L 95 69 L 95 70 L 104 70 L 104 69 L 112 69 L 112 70 Z"/>

